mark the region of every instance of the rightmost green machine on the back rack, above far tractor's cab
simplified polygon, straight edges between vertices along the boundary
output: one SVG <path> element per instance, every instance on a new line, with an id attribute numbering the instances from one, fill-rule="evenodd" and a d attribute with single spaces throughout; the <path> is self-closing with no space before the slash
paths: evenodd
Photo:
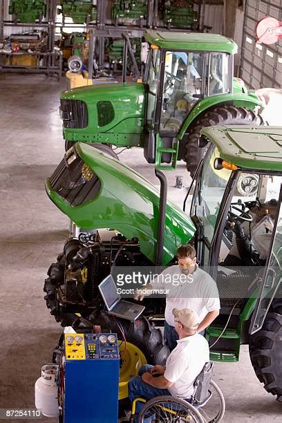
<path id="1" fill-rule="evenodd" d="M 176 28 L 196 28 L 198 12 L 194 10 L 194 1 L 164 1 L 161 8 L 164 25 Z"/>

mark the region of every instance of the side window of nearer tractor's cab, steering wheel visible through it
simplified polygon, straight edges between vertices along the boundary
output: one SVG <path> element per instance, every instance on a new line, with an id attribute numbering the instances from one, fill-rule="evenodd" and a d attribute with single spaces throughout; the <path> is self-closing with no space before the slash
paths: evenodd
<path id="1" fill-rule="evenodd" d="M 281 182 L 281 176 L 241 173 L 229 205 L 225 226 L 229 243 L 220 247 L 220 263 L 265 265 L 279 211 Z"/>

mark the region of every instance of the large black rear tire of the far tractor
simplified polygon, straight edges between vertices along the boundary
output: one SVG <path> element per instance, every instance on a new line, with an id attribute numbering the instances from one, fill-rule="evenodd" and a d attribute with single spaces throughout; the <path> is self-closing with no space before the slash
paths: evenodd
<path id="1" fill-rule="evenodd" d="M 200 130 L 215 125 L 262 125 L 263 119 L 252 110 L 244 107 L 218 106 L 209 109 L 192 124 L 185 141 L 185 162 L 187 170 L 194 176 L 200 160 L 205 156 L 207 147 L 198 147 Z"/>

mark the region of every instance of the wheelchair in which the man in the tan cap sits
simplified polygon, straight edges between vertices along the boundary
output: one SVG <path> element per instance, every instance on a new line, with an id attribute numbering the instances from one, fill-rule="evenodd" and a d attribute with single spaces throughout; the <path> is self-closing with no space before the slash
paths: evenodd
<path id="1" fill-rule="evenodd" d="M 144 423 L 216 423 L 223 419 L 225 400 L 217 384 L 212 381 L 214 363 L 209 361 L 196 377 L 194 391 L 189 400 L 165 395 L 145 400 L 135 398 L 131 408 L 131 422 Z M 139 414 L 136 403 L 143 402 Z"/>

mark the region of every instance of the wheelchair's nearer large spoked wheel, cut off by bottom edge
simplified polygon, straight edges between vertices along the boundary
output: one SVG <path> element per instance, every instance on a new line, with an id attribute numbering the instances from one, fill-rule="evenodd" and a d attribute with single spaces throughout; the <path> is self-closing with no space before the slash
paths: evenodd
<path id="1" fill-rule="evenodd" d="M 138 415 L 138 423 L 146 422 L 149 417 L 154 423 L 205 423 L 194 406 L 171 395 L 149 400 Z"/>

